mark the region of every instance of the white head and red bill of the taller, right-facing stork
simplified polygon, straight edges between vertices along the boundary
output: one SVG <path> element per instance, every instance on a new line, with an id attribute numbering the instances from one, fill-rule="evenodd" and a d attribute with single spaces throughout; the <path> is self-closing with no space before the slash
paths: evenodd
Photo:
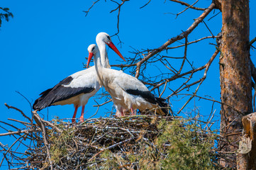
<path id="1" fill-rule="evenodd" d="M 111 37 L 107 33 L 98 33 L 98 35 L 96 36 L 96 42 L 97 45 L 100 45 L 101 42 L 105 42 L 105 44 L 108 45 L 108 47 L 110 47 L 114 52 L 116 52 L 117 55 L 119 55 L 119 57 L 121 57 L 126 62 L 123 55 L 121 55 L 121 53 L 117 50 L 116 46 L 113 45 Z"/>

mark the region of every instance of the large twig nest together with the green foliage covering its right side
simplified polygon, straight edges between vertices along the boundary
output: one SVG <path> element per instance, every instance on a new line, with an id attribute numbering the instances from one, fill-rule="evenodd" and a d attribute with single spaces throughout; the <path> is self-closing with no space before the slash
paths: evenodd
<path id="1" fill-rule="evenodd" d="M 217 135 L 204 130 L 198 118 L 95 120 L 69 124 L 55 119 L 48 143 L 56 169 L 218 169 Z"/>

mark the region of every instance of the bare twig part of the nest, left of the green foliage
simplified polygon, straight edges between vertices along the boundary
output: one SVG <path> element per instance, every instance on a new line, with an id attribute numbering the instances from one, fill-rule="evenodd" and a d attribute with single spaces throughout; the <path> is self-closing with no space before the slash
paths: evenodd
<path id="1" fill-rule="evenodd" d="M 139 160 L 130 162 L 128 157 L 131 154 L 138 157 L 141 149 L 154 145 L 161 133 L 157 128 L 161 120 L 173 119 L 171 116 L 133 115 L 91 118 L 84 123 L 62 120 L 49 123 L 35 117 L 39 125 L 34 132 L 38 134 L 37 146 L 27 151 L 30 154 L 27 161 L 32 169 L 101 169 L 102 164 L 114 159 L 108 157 L 109 154 L 106 157 L 106 153 L 111 152 L 112 156 L 122 159 L 116 168 L 136 169 Z"/>

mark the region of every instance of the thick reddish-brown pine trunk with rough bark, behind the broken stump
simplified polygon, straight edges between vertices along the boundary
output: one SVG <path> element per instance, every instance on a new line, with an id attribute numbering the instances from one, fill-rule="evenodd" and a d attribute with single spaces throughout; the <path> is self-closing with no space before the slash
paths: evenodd
<path id="1" fill-rule="evenodd" d="M 222 42 L 220 55 L 221 159 L 224 167 L 235 168 L 236 151 L 242 135 L 243 115 L 252 113 L 252 80 L 250 72 L 249 0 L 222 0 Z"/>

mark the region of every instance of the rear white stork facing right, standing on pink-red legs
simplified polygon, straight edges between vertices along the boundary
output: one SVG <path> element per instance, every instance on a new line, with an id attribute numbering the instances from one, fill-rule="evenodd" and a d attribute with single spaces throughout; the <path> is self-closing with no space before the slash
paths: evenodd
<path id="1" fill-rule="evenodd" d="M 96 43 L 99 45 L 101 60 L 104 61 L 103 67 L 110 68 L 106 45 L 111 47 L 119 56 L 121 56 L 121 53 L 113 45 L 107 33 L 99 33 L 96 36 Z M 89 98 L 94 96 L 101 87 L 96 77 L 95 67 L 90 67 L 70 75 L 53 88 L 43 91 L 40 94 L 40 98 L 35 100 L 33 109 L 40 111 L 48 106 L 74 104 L 75 109 L 72 123 L 74 123 L 79 106 L 82 106 L 80 121 L 84 121 L 84 106 Z"/>

